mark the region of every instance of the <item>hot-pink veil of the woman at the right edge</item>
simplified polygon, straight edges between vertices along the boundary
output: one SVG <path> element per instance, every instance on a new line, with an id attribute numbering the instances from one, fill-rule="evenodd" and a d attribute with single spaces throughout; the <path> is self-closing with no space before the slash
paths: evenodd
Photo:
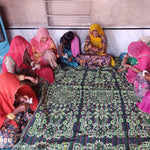
<path id="1" fill-rule="evenodd" d="M 134 65 L 135 68 L 141 72 L 143 70 L 150 71 L 150 48 L 142 41 L 131 42 L 128 46 L 128 54 L 137 59 L 138 64 Z M 126 73 L 127 80 L 134 84 L 137 73 L 132 69 L 128 69 Z"/>

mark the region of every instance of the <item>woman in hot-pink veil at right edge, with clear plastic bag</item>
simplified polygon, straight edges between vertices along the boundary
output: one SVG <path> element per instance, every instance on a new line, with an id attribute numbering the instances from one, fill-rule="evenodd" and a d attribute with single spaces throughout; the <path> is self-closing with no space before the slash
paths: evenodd
<path id="1" fill-rule="evenodd" d="M 150 48 L 142 41 L 132 42 L 128 54 L 138 60 L 137 65 L 125 65 L 128 69 L 127 80 L 134 84 L 135 93 L 142 100 L 137 103 L 137 107 L 150 113 Z"/>

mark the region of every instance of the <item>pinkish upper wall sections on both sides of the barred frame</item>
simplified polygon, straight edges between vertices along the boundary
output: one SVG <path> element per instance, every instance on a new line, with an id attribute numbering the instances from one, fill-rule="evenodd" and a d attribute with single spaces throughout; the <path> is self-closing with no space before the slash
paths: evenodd
<path id="1" fill-rule="evenodd" d="M 150 27 L 149 0 L 91 1 L 91 23 L 100 23 L 104 28 Z M 61 5 L 64 5 L 64 3 L 61 3 Z M 0 0 L 0 13 L 5 19 L 6 27 L 47 25 L 44 0 Z"/>

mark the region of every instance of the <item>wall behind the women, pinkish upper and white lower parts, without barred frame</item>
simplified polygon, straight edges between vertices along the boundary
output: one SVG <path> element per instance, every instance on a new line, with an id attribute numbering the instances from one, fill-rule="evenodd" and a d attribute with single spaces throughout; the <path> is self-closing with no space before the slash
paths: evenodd
<path id="1" fill-rule="evenodd" d="M 78 1 L 78 0 L 76 0 Z M 88 0 L 90 1 L 90 0 Z M 150 0 L 91 0 L 91 23 L 99 23 L 107 37 L 107 52 L 119 56 L 130 42 L 150 36 Z M 63 3 L 62 3 L 63 5 Z M 78 10 L 77 10 L 78 11 Z M 59 39 L 68 30 L 80 38 L 83 48 L 89 26 L 51 27 L 47 25 L 44 0 L 0 0 L 0 14 L 9 41 L 22 35 L 28 41 L 39 27 L 47 27 L 59 47 Z"/>

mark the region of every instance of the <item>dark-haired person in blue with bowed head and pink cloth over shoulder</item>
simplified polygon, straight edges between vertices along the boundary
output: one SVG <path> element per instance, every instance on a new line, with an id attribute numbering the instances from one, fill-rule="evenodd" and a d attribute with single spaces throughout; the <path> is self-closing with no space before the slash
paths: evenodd
<path id="1" fill-rule="evenodd" d="M 61 65 L 78 67 L 76 56 L 80 54 L 79 40 L 72 31 L 66 32 L 60 38 Z"/>

